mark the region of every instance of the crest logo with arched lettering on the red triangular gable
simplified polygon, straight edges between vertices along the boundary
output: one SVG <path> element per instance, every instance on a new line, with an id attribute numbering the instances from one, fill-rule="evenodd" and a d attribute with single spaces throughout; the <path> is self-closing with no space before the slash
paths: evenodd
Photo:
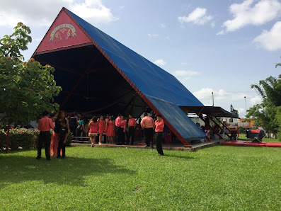
<path id="1" fill-rule="evenodd" d="M 75 27 L 69 23 L 63 23 L 57 25 L 52 30 L 49 42 L 52 42 L 54 39 L 57 41 L 69 40 L 71 37 L 74 38 L 74 36 L 77 38 Z"/>

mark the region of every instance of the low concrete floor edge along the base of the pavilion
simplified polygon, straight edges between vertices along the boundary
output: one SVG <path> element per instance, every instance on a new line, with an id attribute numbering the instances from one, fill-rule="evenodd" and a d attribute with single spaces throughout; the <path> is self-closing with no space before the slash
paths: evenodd
<path id="1" fill-rule="evenodd" d="M 212 147 L 217 144 L 222 144 L 224 140 L 214 140 L 212 142 L 198 142 L 195 144 L 191 144 L 191 147 L 185 147 L 182 143 L 168 143 L 162 144 L 164 150 L 180 150 L 180 151 L 188 151 L 193 152 L 196 149 L 202 149 L 205 147 Z M 137 148 L 137 149 L 151 149 L 151 147 L 145 147 L 144 142 L 135 143 L 134 145 L 116 145 L 116 144 L 95 144 L 95 147 L 123 147 L 123 148 Z M 89 146 L 91 147 L 90 143 L 72 143 L 71 146 Z M 156 145 L 154 145 L 154 149 L 156 149 Z"/>

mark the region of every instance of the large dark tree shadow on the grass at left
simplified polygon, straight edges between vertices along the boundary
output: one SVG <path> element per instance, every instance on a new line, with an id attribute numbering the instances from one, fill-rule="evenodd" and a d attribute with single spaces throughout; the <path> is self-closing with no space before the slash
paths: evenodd
<path id="1" fill-rule="evenodd" d="M 132 175 L 136 171 L 118 166 L 112 159 L 92 159 L 67 156 L 64 160 L 44 156 L 36 160 L 33 156 L 9 155 L 0 157 L 0 190 L 10 183 L 44 181 L 44 183 L 86 186 L 84 176 L 93 178 L 106 173 Z"/>

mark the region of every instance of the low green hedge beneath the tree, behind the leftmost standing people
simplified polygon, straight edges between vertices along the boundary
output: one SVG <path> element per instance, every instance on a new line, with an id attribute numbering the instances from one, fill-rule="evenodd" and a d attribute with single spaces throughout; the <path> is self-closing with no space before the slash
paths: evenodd
<path id="1" fill-rule="evenodd" d="M 38 143 L 39 130 L 27 130 L 27 129 L 11 129 L 8 147 L 10 149 L 18 149 L 19 147 L 23 149 L 36 148 Z M 0 130 L 0 147 L 6 147 L 6 131 L 4 129 Z M 67 146 L 72 142 L 72 134 L 69 131 L 69 136 L 67 138 Z"/>

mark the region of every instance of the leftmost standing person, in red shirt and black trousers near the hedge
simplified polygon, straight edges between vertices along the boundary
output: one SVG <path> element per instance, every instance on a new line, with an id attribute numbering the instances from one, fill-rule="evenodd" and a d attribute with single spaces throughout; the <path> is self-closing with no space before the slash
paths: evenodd
<path id="1" fill-rule="evenodd" d="M 50 119 L 49 112 L 45 110 L 43 113 L 43 118 L 38 122 L 38 130 L 40 130 L 40 134 L 38 137 L 38 144 L 37 144 L 37 157 L 36 159 L 41 159 L 41 149 L 44 143 L 45 146 L 45 155 L 46 159 L 50 161 L 50 144 L 51 144 L 51 133 L 50 130 L 55 127 L 54 121 L 57 118 L 57 114 Z"/>

